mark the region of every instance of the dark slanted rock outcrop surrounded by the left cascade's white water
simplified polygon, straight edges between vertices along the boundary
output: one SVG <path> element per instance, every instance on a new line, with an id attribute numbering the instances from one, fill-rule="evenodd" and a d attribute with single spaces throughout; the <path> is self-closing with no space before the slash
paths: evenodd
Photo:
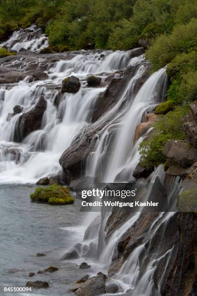
<path id="1" fill-rule="evenodd" d="M 23 113 L 18 118 L 14 131 L 14 142 L 21 142 L 29 133 L 41 127 L 46 105 L 47 102 L 42 95 L 38 103 L 31 110 Z"/>

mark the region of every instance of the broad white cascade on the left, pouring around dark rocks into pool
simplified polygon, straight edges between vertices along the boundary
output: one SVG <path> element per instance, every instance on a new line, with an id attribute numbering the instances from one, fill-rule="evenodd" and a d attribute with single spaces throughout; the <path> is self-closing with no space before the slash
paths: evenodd
<path id="1" fill-rule="evenodd" d="M 112 71 L 109 66 L 111 55 L 119 60 L 115 64 L 117 69 L 126 66 L 123 60 L 128 56 L 127 52 L 105 51 L 104 60 L 99 58 L 100 53 L 75 53 L 72 59 L 60 60 L 55 66 L 48 66 L 49 77 L 44 81 L 29 82 L 25 78 L 9 88 L 4 86 L 0 89 L 0 182 L 35 183 L 39 178 L 58 173 L 61 169 L 59 157 L 80 130 L 90 124 L 97 97 L 106 89 L 106 86 L 87 87 L 85 82 L 87 75 L 92 73 L 93 68 L 94 73 L 100 72 L 102 67 Z M 82 58 L 87 63 L 79 64 Z M 39 57 L 39 59 L 42 62 L 44 58 Z M 128 63 L 132 61 L 128 58 L 127 60 Z M 133 60 L 135 62 L 135 58 Z M 15 61 L 12 63 L 14 65 Z M 62 63 L 63 68 L 59 67 Z M 27 61 L 24 61 L 23 67 L 26 66 Z M 61 86 L 62 80 L 71 74 L 80 78 L 82 87 L 76 94 L 64 94 L 57 110 L 54 105 L 58 94 L 56 87 Z M 105 73 L 100 74 L 100 77 L 105 79 Z M 53 86 L 52 90 L 47 88 L 48 85 Z M 17 119 L 31 110 L 42 93 L 47 100 L 47 108 L 42 118 L 41 129 L 28 134 L 22 143 L 14 143 Z M 9 116 L 15 105 L 22 106 L 23 110 L 20 114 Z"/>

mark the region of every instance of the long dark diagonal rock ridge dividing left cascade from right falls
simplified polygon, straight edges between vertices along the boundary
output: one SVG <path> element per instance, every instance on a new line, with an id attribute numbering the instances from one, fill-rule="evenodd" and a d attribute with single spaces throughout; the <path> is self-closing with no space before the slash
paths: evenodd
<path id="1" fill-rule="evenodd" d="M 144 66 L 149 64 L 145 63 Z M 113 78 L 108 88 L 99 95 L 92 115 L 90 126 L 86 127 L 83 133 L 78 136 L 70 145 L 70 147 L 62 154 L 59 163 L 64 170 L 66 176 L 65 182 L 70 183 L 73 179 L 78 179 L 84 174 L 85 162 L 90 152 L 94 151 L 95 144 L 98 140 L 98 134 L 107 126 L 110 120 L 113 120 L 114 114 L 110 113 L 108 117 L 105 114 L 111 111 L 115 104 L 120 100 L 124 89 L 128 82 L 137 71 L 136 67 L 129 67 L 122 78 Z M 147 79 L 147 73 L 139 81 L 138 87 Z M 101 120 L 102 118 L 102 120 Z M 113 136 L 113 135 L 112 135 Z M 106 155 L 108 157 L 108 155 Z"/>

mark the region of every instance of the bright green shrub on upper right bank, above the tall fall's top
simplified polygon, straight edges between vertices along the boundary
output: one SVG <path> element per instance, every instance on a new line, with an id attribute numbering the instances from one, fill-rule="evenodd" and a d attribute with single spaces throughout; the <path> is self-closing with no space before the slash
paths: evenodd
<path id="1" fill-rule="evenodd" d="M 159 36 L 147 50 L 155 70 L 164 67 L 180 53 L 189 53 L 197 48 L 197 19 L 186 25 L 177 25 L 170 35 Z"/>

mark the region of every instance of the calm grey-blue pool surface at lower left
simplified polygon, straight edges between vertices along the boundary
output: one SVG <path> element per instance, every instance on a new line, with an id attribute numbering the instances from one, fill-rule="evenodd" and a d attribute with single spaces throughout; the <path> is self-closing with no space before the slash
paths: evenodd
<path id="1" fill-rule="evenodd" d="M 61 261 L 62 255 L 75 243 L 83 240 L 85 213 L 80 204 L 49 206 L 31 203 L 33 186 L 0 185 L 0 295 L 4 286 L 24 287 L 27 281 L 47 281 L 49 289 L 39 289 L 12 295 L 73 295 L 69 287 L 80 279 L 85 270 L 79 260 Z M 46 254 L 37 257 L 36 253 Z M 37 274 L 54 265 L 54 273 Z M 29 272 L 36 275 L 28 277 Z"/>

